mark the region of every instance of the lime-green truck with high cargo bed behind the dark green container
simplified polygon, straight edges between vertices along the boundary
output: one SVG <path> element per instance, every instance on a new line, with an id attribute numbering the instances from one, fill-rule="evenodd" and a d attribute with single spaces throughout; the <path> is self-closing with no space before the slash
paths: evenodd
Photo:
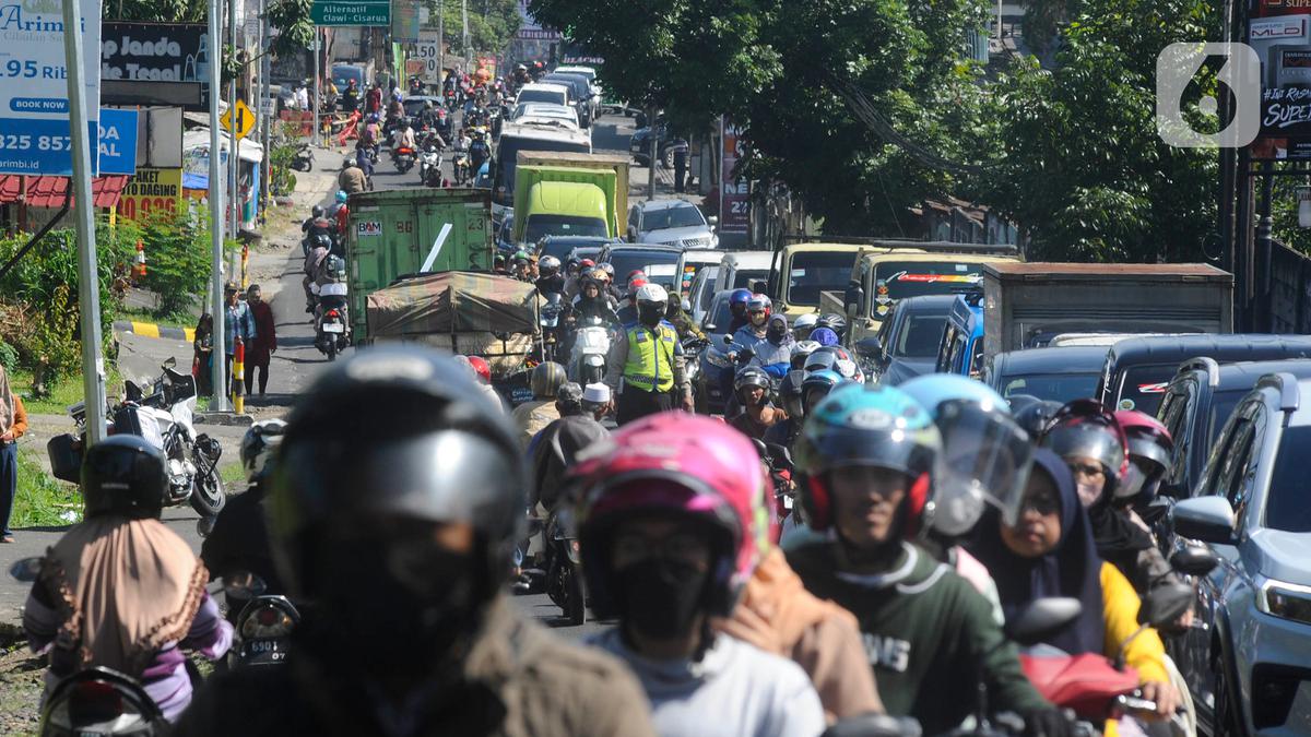
<path id="1" fill-rule="evenodd" d="M 628 157 L 520 151 L 514 174 L 514 241 L 620 237 L 628 216 Z"/>

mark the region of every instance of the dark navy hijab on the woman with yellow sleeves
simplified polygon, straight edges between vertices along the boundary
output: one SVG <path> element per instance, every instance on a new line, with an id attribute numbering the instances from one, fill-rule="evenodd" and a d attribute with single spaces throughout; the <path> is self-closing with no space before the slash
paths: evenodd
<path id="1" fill-rule="evenodd" d="M 1041 557 L 1016 555 L 1002 540 L 1000 517 L 994 510 L 985 515 L 975 540 L 966 549 L 992 574 L 1007 620 L 1019 616 L 1034 599 L 1079 599 L 1083 605 L 1079 618 L 1044 641 L 1070 654 L 1101 653 L 1105 641 L 1101 559 L 1092 540 L 1088 515 L 1079 504 L 1074 476 L 1065 460 L 1047 448 L 1038 448 L 1034 454 L 1033 473 L 1051 479 L 1061 501 L 1061 539 L 1051 552 Z"/>

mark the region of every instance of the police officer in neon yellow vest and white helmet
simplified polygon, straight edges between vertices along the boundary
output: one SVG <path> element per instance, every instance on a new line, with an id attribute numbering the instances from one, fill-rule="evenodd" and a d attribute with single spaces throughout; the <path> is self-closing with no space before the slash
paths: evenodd
<path id="1" fill-rule="evenodd" d="M 637 320 L 623 327 L 610 349 L 606 383 L 619 395 L 615 420 L 631 420 L 665 412 L 674 403 L 692 412 L 692 386 L 684 371 L 678 330 L 665 320 L 669 292 L 659 285 L 637 290 Z M 623 379 L 623 389 L 619 384 Z"/>

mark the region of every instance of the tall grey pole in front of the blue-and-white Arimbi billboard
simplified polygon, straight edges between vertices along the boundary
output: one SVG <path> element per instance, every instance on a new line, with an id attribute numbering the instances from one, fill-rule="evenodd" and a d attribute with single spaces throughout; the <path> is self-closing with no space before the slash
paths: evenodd
<path id="1" fill-rule="evenodd" d="M 68 67 L 68 127 L 72 132 L 76 195 L 77 304 L 81 320 L 83 396 L 87 405 L 87 441 L 105 439 L 105 358 L 100 353 L 100 274 L 96 270 L 96 211 L 90 199 L 90 142 L 87 127 L 87 88 L 83 80 L 81 3 L 64 0 L 64 63 Z M 96 50 L 100 54 L 100 50 Z M 98 156 L 98 152 L 97 152 Z"/>

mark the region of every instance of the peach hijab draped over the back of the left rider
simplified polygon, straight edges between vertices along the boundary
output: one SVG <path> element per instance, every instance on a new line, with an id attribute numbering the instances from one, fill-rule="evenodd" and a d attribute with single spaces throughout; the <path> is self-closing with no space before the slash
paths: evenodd
<path id="1" fill-rule="evenodd" d="M 102 665 L 140 678 L 156 652 L 186 637 L 208 572 L 159 519 L 100 514 L 50 548 L 41 580 L 63 619 L 58 673 Z"/>

